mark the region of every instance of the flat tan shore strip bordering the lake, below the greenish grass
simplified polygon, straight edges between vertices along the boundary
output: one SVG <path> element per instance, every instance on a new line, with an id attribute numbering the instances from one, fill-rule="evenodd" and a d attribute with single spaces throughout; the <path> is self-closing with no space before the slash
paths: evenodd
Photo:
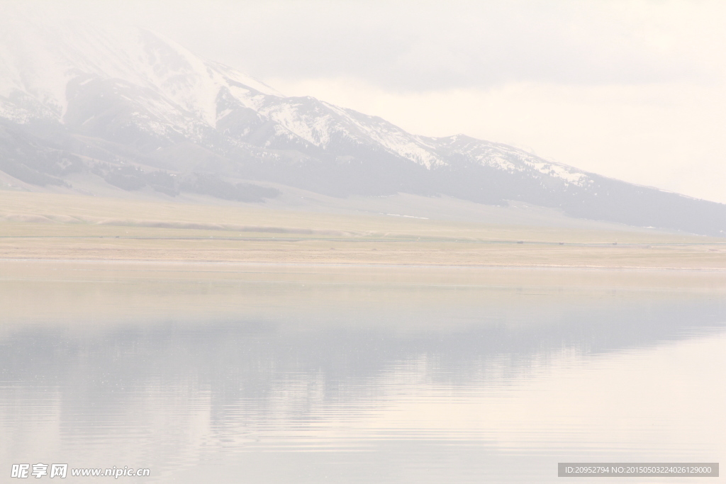
<path id="1" fill-rule="evenodd" d="M 443 266 L 726 269 L 711 245 L 3 237 L 0 258 Z"/>

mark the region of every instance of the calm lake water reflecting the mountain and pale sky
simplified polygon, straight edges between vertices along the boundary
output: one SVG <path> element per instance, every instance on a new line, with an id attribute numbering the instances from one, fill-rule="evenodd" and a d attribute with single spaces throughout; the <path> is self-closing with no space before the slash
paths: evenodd
<path id="1" fill-rule="evenodd" d="M 0 261 L 0 481 L 39 462 L 150 469 L 128 483 L 726 462 L 725 296 L 716 272 Z"/>

